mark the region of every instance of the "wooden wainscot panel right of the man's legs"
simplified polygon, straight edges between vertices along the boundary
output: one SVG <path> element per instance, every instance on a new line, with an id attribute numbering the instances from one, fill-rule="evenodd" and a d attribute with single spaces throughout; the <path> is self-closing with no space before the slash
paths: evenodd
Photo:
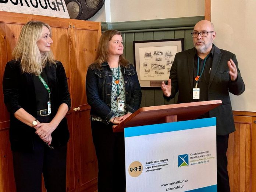
<path id="1" fill-rule="evenodd" d="M 255 124 L 253 117 L 234 115 L 236 131 L 230 134 L 228 141 L 228 173 L 231 192 L 255 191 L 252 177 L 256 162 L 253 157 L 255 145 Z M 253 127 L 254 126 L 254 127 Z"/>

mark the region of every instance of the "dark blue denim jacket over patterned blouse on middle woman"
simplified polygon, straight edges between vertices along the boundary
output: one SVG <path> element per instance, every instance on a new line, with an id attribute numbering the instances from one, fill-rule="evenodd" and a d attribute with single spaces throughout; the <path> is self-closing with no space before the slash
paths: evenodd
<path id="1" fill-rule="evenodd" d="M 86 96 L 88 104 L 92 107 L 90 115 L 102 118 L 105 124 L 114 113 L 110 110 L 112 91 L 112 71 L 107 62 L 101 64 L 101 69 L 88 68 L 86 75 Z M 125 84 L 125 108 L 134 113 L 141 104 L 141 86 L 134 65 L 120 65 Z"/>

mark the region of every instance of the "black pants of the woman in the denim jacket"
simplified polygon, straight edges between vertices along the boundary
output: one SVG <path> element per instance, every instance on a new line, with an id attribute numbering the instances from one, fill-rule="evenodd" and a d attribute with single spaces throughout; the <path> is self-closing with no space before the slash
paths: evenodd
<path id="1" fill-rule="evenodd" d="M 113 133 L 112 125 L 91 121 L 98 159 L 98 192 L 125 192 L 124 132 Z"/>

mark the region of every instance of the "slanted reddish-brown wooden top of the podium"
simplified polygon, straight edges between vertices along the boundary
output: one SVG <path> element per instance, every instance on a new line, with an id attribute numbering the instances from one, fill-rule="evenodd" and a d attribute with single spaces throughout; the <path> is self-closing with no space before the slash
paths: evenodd
<path id="1" fill-rule="evenodd" d="M 221 100 L 212 100 L 142 107 L 122 121 L 119 125 L 114 125 L 113 132 L 122 132 L 125 127 L 193 120 L 221 104 Z"/>

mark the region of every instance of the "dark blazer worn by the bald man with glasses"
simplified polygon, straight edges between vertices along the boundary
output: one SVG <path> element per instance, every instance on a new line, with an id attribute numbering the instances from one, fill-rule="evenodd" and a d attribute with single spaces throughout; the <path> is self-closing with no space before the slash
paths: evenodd
<path id="1" fill-rule="evenodd" d="M 210 117 L 217 117 L 217 135 L 227 135 L 235 131 L 232 107 L 229 92 L 241 95 L 245 90 L 245 84 L 238 69 L 235 54 L 218 49 L 213 45 L 213 63 L 211 66 L 208 85 L 208 100 L 222 100 L 222 105 L 209 111 Z M 195 48 L 177 53 L 170 71 L 171 99 L 179 91 L 178 103 L 196 102 L 192 99 L 193 90 L 193 66 Z M 227 61 L 232 58 L 237 66 L 238 77 L 236 81 L 230 80 Z M 203 91 L 203 90 L 201 90 Z"/>

